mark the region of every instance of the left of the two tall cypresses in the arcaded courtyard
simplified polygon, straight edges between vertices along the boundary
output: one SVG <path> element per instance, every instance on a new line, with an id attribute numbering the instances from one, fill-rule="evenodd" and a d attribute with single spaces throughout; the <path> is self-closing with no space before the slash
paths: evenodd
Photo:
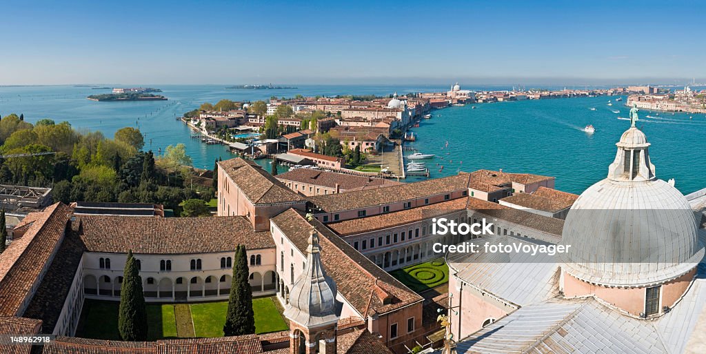
<path id="1" fill-rule="evenodd" d="M 118 313 L 118 331 L 123 341 L 147 340 L 147 309 L 142 278 L 133 257 L 128 252 L 123 273 L 123 285 L 120 288 L 120 309 Z"/>

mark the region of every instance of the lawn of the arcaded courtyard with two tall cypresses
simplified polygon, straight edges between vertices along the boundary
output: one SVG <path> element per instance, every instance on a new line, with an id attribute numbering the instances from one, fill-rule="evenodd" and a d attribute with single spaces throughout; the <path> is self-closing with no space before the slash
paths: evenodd
<path id="1" fill-rule="evenodd" d="M 258 334 L 289 329 L 275 301 L 277 300 L 273 297 L 253 299 L 255 330 Z M 190 305 L 148 304 L 148 339 L 154 341 L 163 338 L 223 336 L 227 307 L 227 301 Z M 118 309 L 119 302 L 116 301 L 85 300 L 76 336 L 119 340 Z M 180 331 L 177 331 L 177 312 Z"/>

